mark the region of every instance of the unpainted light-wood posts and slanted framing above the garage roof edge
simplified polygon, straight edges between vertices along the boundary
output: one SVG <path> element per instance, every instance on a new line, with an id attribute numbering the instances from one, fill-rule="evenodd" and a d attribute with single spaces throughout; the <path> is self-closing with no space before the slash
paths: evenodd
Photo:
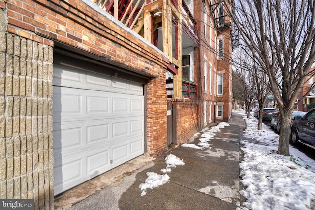
<path id="1" fill-rule="evenodd" d="M 162 22 L 163 52 L 169 56 L 170 72 L 174 74 L 174 98 L 182 97 L 182 0 L 93 0 L 106 8 L 116 19 L 154 44 L 154 33 Z M 120 3 L 120 4 L 119 4 Z M 146 5 L 145 5 L 146 4 Z M 119 5 L 121 5 L 119 8 Z M 123 9 L 124 7 L 124 9 Z M 155 13 L 161 13 L 154 17 Z M 141 17 L 142 14 L 142 17 Z M 189 18 L 189 17 L 187 17 Z M 189 19 L 184 20 L 186 22 Z M 173 43 L 175 41 L 175 43 Z M 174 49 L 173 49 L 173 46 Z"/>

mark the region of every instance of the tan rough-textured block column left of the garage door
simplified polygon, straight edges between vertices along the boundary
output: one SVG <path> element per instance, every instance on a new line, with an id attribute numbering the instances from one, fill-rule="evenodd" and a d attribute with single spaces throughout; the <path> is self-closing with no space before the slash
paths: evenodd
<path id="1" fill-rule="evenodd" d="M 5 31 L 0 10 L 0 198 L 53 209 L 52 47 Z"/>

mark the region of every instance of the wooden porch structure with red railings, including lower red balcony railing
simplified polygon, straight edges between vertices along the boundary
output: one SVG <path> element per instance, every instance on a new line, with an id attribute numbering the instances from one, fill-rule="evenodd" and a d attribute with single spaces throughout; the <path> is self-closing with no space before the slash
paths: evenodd
<path id="1" fill-rule="evenodd" d="M 184 0 L 92 1 L 169 56 L 168 97 L 197 98 L 197 85 L 182 80 L 182 49 L 198 45 L 196 22 Z"/>

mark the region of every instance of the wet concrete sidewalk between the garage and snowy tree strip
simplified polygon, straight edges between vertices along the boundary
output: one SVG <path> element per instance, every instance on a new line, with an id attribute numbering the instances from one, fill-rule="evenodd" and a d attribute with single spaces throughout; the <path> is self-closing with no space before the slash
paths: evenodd
<path id="1" fill-rule="evenodd" d="M 209 142 L 211 148 L 198 150 L 179 146 L 166 154 L 149 161 L 121 179 L 99 188 L 96 192 L 70 207 L 56 202 L 57 209 L 72 210 L 232 210 L 240 201 L 239 140 L 245 127 L 242 115 L 233 111 L 230 126 L 216 132 Z M 195 134 L 188 143 L 198 144 L 203 132 Z M 172 153 L 185 163 L 172 168 L 168 183 L 147 189 L 141 196 L 139 185 L 147 179 L 147 172 L 164 174 L 165 157 Z M 82 190 L 82 189 L 81 189 Z M 84 190 L 84 188 L 83 188 Z M 79 193 L 80 191 L 77 191 Z M 86 193 L 81 191 L 81 193 Z M 92 194 L 92 193 L 90 193 Z M 61 205 L 61 206 L 59 206 Z"/>

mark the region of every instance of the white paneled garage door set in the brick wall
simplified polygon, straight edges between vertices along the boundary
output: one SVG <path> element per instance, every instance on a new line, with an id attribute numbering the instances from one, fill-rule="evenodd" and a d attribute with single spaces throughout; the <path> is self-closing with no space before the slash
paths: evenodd
<path id="1" fill-rule="evenodd" d="M 55 195 L 144 153 L 142 84 L 57 64 L 53 77 Z"/>

